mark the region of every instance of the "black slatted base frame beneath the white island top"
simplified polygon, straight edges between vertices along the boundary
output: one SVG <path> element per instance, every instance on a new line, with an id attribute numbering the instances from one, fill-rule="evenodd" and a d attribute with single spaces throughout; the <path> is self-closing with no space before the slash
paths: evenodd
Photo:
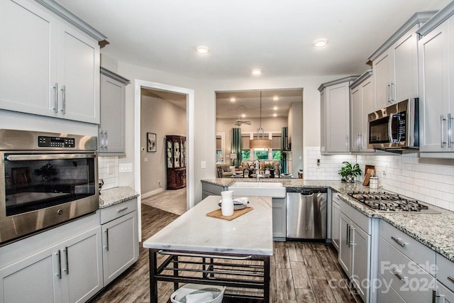
<path id="1" fill-rule="evenodd" d="M 157 282 L 222 285 L 223 302 L 270 302 L 270 255 L 238 255 L 150 248 L 150 302 Z M 158 265 L 158 255 L 164 260 Z M 170 299 L 169 299 L 170 302 Z"/>

